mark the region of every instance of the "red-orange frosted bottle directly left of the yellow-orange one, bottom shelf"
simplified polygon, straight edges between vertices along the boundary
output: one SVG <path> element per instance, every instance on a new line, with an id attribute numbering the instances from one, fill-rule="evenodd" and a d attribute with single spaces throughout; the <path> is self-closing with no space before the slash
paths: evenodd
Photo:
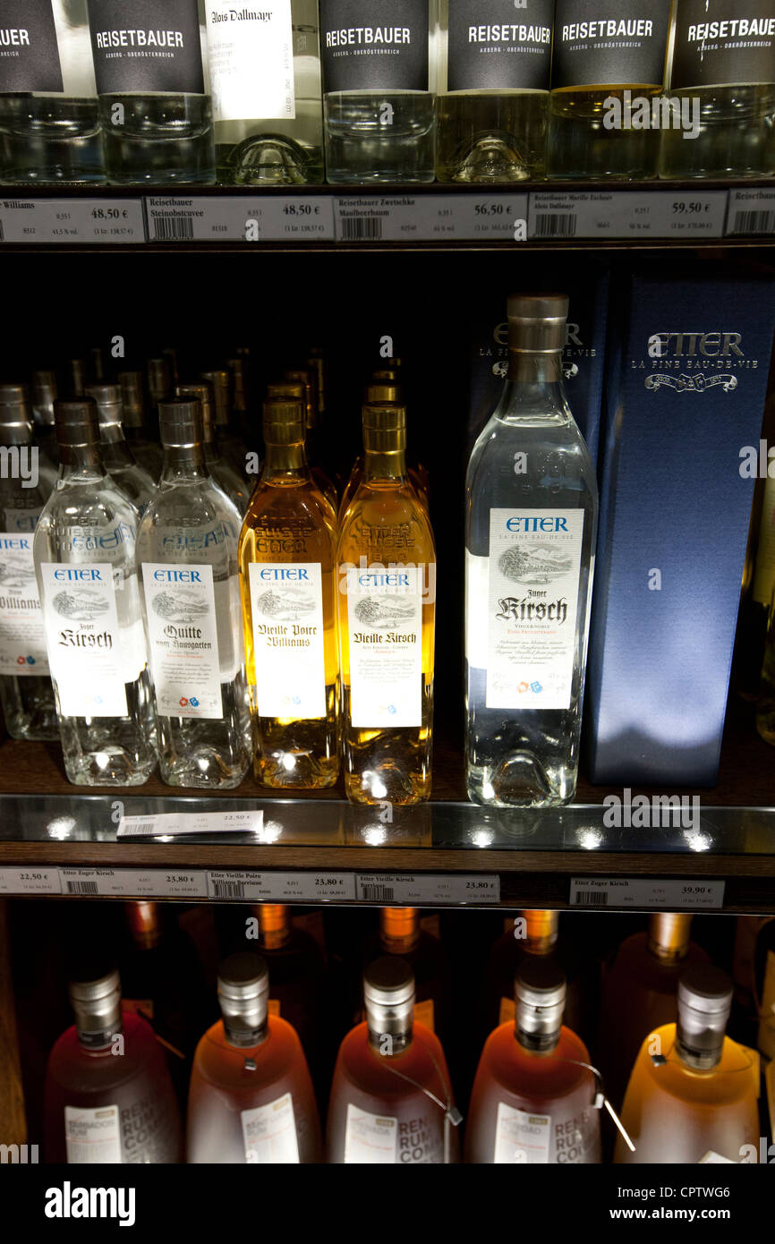
<path id="1" fill-rule="evenodd" d="M 583 1041 L 562 1024 L 565 977 L 525 959 L 515 1020 L 486 1040 L 469 1106 L 465 1161 L 586 1166 L 601 1161 L 596 1077 Z"/>

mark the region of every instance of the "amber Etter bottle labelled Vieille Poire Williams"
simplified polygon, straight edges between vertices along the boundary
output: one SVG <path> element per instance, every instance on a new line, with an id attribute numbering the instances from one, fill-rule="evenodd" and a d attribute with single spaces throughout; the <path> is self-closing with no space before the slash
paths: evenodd
<path id="1" fill-rule="evenodd" d="M 239 552 L 254 773 L 320 789 L 340 769 L 336 518 L 306 460 L 300 402 L 264 404 L 264 440 Z"/>

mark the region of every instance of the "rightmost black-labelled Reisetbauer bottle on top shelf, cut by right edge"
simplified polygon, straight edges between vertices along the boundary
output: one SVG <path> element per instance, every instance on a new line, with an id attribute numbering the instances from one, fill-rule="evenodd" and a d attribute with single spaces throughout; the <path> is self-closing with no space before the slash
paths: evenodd
<path id="1" fill-rule="evenodd" d="M 678 0 L 661 177 L 775 172 L 773 0 Z M 755 205 L 754 205 L 755 207 Z"/>

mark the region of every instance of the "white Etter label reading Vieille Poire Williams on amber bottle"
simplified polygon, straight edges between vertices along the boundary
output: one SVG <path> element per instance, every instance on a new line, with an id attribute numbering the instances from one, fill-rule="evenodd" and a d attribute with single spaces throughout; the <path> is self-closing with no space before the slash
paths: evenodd
<path id="1" fill-rule="evenodd" d="M 320 564 L 251 562 L 248 575 L 260 717 L 325 717 Z"/>

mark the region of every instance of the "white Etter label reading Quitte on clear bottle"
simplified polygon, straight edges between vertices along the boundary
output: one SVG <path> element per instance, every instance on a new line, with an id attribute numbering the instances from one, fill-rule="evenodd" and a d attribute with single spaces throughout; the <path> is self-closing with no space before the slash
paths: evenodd
<path id="1" fill-rule="evenodd" d="M 230 620 L 229 583 L 220 608 Z M 223 717 L 213 567 L 143 562 L 148 656 L 160 717 Z M 234 678 L 234 672 L 231 672 Z"/>

